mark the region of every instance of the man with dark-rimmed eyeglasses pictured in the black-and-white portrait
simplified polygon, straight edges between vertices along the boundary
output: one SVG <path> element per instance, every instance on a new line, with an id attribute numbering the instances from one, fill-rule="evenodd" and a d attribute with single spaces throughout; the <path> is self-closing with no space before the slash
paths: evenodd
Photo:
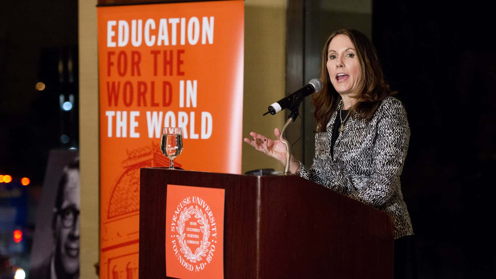
<path id="1" fill-rule="evenodd" d="M 64 167 L 59 182 L 52 229 L 54 245 L 50 262 L 30 272 L 30 278 L 79 278 L 79 158 Z"/>

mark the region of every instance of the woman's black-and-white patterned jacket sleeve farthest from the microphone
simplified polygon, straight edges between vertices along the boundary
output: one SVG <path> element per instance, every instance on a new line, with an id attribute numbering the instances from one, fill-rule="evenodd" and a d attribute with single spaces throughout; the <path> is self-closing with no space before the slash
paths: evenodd
<path id="1" fill-rule="evenodd" d="M 405 108 L 398 100 L 383 104 L 377 123 L 377 136 L 373 150 L 373 173 L 364 187 L 349 195 L 366 205 L 379 208 L 398 191 L 403 170 L 410 127 Z"/>

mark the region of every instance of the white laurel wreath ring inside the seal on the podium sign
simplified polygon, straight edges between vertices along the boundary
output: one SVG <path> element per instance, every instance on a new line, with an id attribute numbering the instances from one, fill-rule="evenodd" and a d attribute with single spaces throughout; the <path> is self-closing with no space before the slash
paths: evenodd
<path id="1" fill-rule="evenodd" d="M 203 233 L 203 240 L 200 241 L 200 247 L 196 248 L 194 254 L 186 244 L 186 233 L 183 233 L 185 229 L 185 222 L 189 218 L 191 218 L 191 215 L 193 214 L 194 217 L 197 219 L 196 222 L 202 225 L 200 227 L 200 230 Z M 194 209 L 193 206 L 183 209 L 183 211 L 181 211 L 181 214 L 179 215 L 179 222 L 176 230 L 179 233 L 176 235 L 176 238 L 178 239 L 179 245 L 181 246 L 180 251 L 181 253 L 183 253 L 186 260 L 189 260 L 191 263 L 201 261 L 201 257 L 205 257 L 207 255 L 207 248 L 208 246 L 210 246 L 210 242 L 208 241 L 208 238 L 210 237 L 210 225 L 208 224 L 207 214 L 203 214 L 201 209 L 198 209 L 197 206 L 195 206 Z"/>

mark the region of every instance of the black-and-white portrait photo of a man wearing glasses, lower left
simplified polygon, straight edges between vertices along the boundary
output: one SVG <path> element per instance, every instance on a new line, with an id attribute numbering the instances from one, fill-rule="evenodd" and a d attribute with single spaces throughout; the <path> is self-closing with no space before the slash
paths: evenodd
<path id="1" fill-rule="evenodd" d="M 38 213 L 29 278 L 79 278 L 79 193 L 77 154 L 52 151 L 41 200 L 51 206 Z"/>

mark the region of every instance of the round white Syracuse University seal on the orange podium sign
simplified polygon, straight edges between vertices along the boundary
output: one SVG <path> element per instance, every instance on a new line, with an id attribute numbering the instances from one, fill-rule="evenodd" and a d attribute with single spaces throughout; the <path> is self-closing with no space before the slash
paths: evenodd
<path id="1" fill-rule="evenodd" d="M 186 197 L 174 210 L 171 224 L 172 250 L 188 271 L 199 272 L 211 261 L 217 243 L 212 210 L 198 197 Z"/>

